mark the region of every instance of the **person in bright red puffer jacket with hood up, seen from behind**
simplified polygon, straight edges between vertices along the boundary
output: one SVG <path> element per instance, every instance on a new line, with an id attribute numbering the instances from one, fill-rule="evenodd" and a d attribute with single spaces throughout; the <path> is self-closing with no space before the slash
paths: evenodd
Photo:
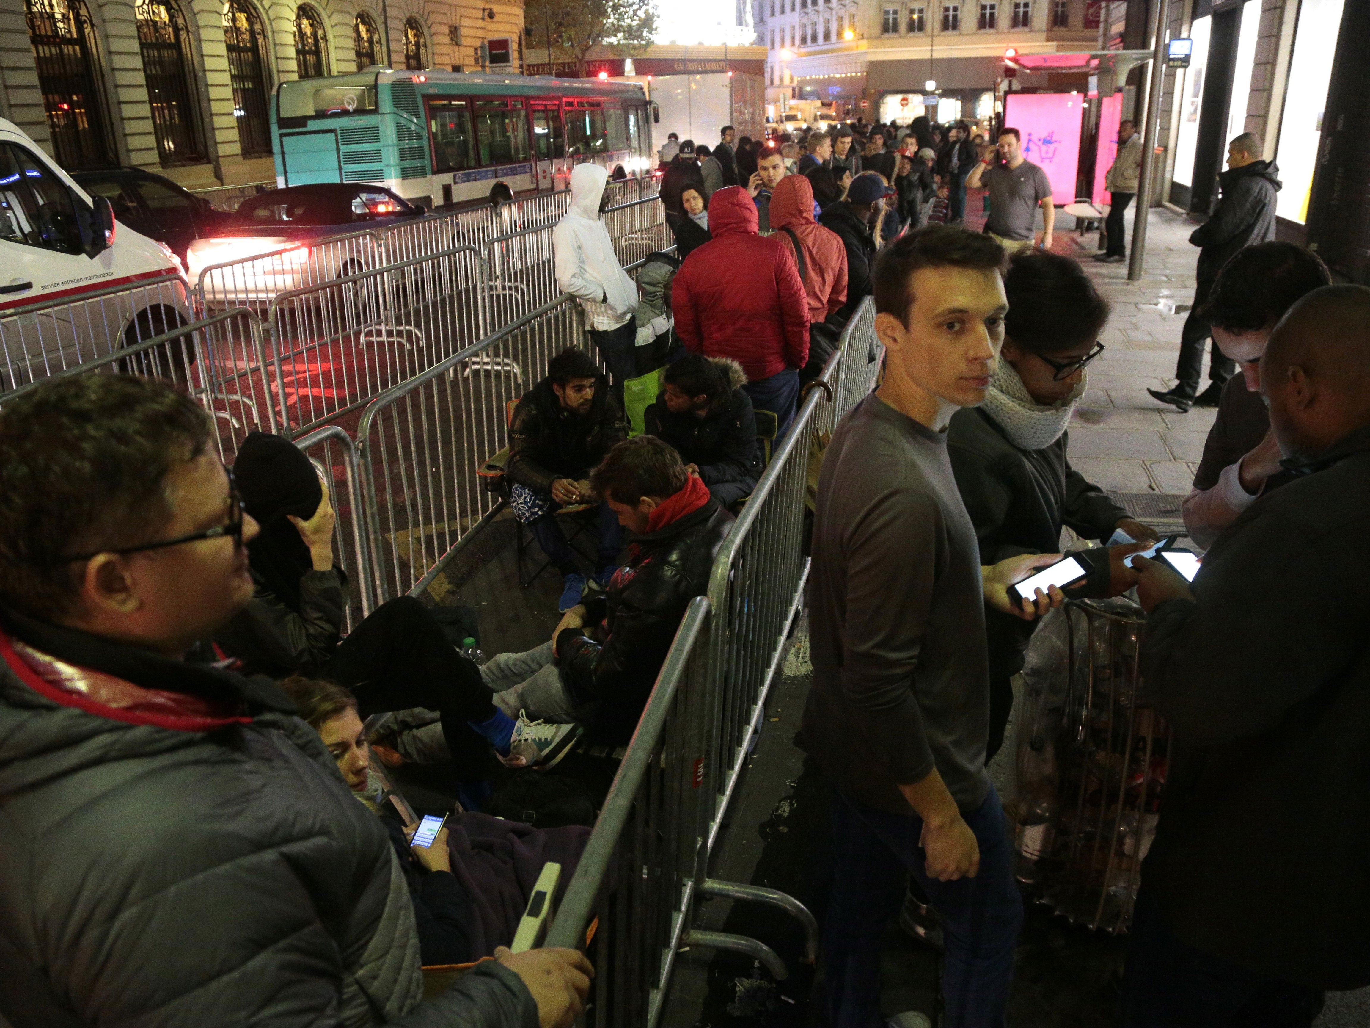
<path id="1" fill-rule="evenodd" d="M 685 258 L 671 310 L 686 350 L 743 366 L 752 406 L 775 414 L 784 436 L 808 360 L 808 297 L 789 240 L 758 236 L 758 225 L 745 189 L 717 191 L 708 199 L 714 238 Z"/>

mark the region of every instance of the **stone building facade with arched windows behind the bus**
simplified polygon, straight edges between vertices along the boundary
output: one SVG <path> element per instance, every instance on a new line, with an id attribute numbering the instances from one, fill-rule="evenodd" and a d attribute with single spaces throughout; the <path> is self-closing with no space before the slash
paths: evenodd
<path id="1" fill-rule="evenodd" d="M 10 0 L 0 117 L 68 170 L 126 164 L 188 188 L 275 177 L 275 84 L 371 64 L 480 70 L 522 0 Z M 386 32 L 388 30 L 388 32 Z"/>

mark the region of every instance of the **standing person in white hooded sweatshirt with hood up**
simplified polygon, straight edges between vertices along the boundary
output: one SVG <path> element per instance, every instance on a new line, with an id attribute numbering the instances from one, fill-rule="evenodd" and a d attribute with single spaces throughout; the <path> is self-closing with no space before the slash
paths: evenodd
<path id="1" fill-rule="evenodd" d="M 599 164 L 577 164 L 571 171 L 571 207 L 552 232 L 556 285 L 581 302 L 585 326 L 595 348 L 608 365 L 614 396 L 623 403 L 623 382 L 634 378 L 633 345 L 637 326 L 637 284 L 627 276 L 600 206 L 608 171 Z"/>

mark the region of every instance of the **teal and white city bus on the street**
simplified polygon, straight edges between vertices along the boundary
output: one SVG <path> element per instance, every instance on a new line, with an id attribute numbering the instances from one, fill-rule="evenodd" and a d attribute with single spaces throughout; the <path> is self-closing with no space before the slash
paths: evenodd
<path id="1" fill-rule="evenodd" d="M 593 160 L 649 174 L 652 108 L 636 82 L 359 71 L 281 82 L 271 104 L 278 186 L 375 182 L 425 207 L 566 189 Z"/>

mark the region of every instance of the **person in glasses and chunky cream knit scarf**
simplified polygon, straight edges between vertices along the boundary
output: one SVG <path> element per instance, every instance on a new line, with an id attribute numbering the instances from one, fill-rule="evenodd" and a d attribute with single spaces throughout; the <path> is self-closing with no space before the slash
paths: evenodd
<path id="1" fill-rule="evenodd" d="M 1128 517 L 1066 459 L 1066 426 L 1085 395 L 1085 366 L 1103 352 L 1099 333 L 1108 321 L 1107 300 L 1078 263 L 1043 251 L 1014 256 L 1004 292 L 1008 315 L 993 385 L 982 406 L 952 417 L 947 437 L 956 485 L 980 537 L 981 563 L 1055 552 L 1063 525 L 1100 543 L 1117 529 L 1136 540 L 1158 539 L 1155 529 Z M 1123 581 L 1126 552 L 1132 550 L 1085 551 L 1089 580 L 1070 595 L 1121 592 L 1110 588 L 1110 580 Z M 985 611 L 991 689 L 986 762 L 1004 742 L 1014 702 L 1010 680 L 1022 670 L 1036 626 Z"/>

